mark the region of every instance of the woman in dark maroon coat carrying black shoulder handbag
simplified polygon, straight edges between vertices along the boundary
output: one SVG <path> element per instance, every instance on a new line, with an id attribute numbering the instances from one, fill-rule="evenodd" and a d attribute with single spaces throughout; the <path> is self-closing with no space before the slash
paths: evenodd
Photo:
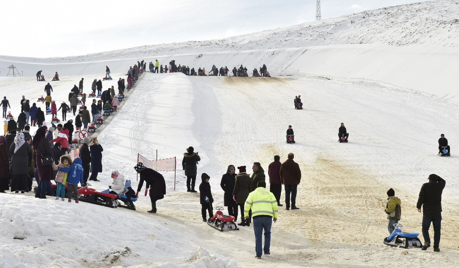
<path id="1" fill-rule="evenodd" d="M 49 156 L 54 161 L 54 155 L 51 151 L 49 140 L 45 137 L 46 129 L 44 127 L 39 127 L 37 134 L 34 136 L 34 141 L 32 145 L 35 150 L 35 163 L 37 163 L 37 170 L 39 176 L 39 184 L 37 187 L 37 192 L 35 197 L 46 199 L 46 184 L 48 181 L 53 179 L 51 165 L 43 165 L 41 162 L 41 156 Z"/>

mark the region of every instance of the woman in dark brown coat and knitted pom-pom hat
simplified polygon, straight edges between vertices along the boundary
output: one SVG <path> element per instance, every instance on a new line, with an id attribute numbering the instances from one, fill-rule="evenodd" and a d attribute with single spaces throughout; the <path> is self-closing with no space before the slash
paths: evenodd
<path id="1" fill-rule="evenodd" d="M 235 176 L 233 200 L 236 201 L 236 205 L 241 208 L 241 223 L 239 226 L 250 226 L 252 212 L 249 211 L 249 218 L 244 219 L 244 203 L 246 202 L 247 196 L 252 192 L 252 179 L 246 172 L 246 166 L 237 167 L 239 173 Z"/>

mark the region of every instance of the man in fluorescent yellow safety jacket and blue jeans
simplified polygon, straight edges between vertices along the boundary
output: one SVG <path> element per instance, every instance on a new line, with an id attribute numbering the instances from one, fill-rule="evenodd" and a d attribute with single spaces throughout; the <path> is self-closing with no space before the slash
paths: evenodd
<path id="1" fill-rule="evenodd" d="M 244 205 L 244 217 L 249 218 L 249 210 L 252 209 L 253 230 L 255 232 L 255 252 L 258 259 L 262 254 L 262 234 L 264 229 L 264 246 L 265 255 L 269 255 L 269 246 L 271 243 L 271 224 L 277 220 L 278 207 L 277 200 L 273 193 L 266 190 L 266 182 L 260 180 L 257 182 L 257 189 L 249 194 Z"/>

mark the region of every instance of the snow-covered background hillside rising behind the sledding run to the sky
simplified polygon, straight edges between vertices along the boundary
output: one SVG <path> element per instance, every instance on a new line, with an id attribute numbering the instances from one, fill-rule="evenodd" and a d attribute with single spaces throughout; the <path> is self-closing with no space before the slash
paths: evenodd
<path id="1" fill-rule="evenodd" d="M 175 59 L 190 67 L 213 64 L 249 70 L 268 66 L 272 75 L 313 74 L 366 78 L 458 101 L 454 75 L 459 51 L 459 5 L 437 0 L 364 11 L 287 28 L 226 39 L 146 45 L 85 56 L 0 56 L 1 75 L 15 64 L 26 76 L 125 72 L 133 62 Z M 432 77 L 438 78 L 435 80 Z"/>

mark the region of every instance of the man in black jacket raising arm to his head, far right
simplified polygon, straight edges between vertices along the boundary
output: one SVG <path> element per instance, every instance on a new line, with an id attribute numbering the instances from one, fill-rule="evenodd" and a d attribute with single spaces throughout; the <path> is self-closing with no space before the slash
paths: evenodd
<path id="1" fill-rule="evenodd" d="M 422 184 L 419 192 L 416 207 L 418 212 L 423 209 L 422 216 L 422 236 L 424 236 L 424 246 L 422 250 L 427 250 L 431 246 L 429 229 L 433 224 L 433 251 L 440 251 L 440 231 L 442 226 L 442 192 L 446 181 L 436 174 L 429 175 L 429 182 Z"/>

